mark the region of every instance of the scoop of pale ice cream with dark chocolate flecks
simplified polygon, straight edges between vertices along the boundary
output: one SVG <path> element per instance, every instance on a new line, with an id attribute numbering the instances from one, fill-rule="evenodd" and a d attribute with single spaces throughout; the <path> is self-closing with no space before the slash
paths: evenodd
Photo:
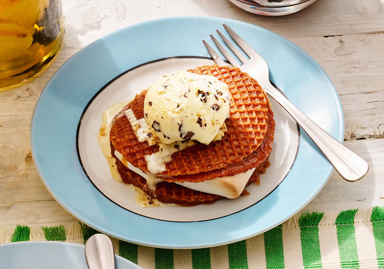
<path id="1" fill-rule="evenodd" d="M 229 114 L 228 85 L 214 76 L 176 71 L 160 77 L 147 93 L 144 118 L 160 141 L 209 144 Z"/>

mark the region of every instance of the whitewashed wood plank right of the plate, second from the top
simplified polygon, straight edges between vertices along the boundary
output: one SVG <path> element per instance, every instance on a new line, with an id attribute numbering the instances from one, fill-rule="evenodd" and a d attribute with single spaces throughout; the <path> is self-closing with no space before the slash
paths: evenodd
<path id="1" fill-rule="evenodd" d="M 345 139 L 384 135 L 384 34 L 291 40 L 320 64 L 339 93 Z"/>

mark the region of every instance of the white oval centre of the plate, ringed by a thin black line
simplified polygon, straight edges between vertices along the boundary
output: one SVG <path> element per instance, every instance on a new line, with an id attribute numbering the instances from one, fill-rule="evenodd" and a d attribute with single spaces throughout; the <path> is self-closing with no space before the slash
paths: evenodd
<path id="1" fill-rule="evenodd" d="M 261 184 L 251 184 L 246 190 L 250 195 L 237 199 L 221 199 L 214 204 L 193 207 L 141 207 L 135 202 L 133 190 L 111 176 L 109 165 L 98 143 L 104 110 L 134 98 L 158 77 L 176 70 L 214 64 L 203 58 L 170 58 L 147 63 L 119 75 L 107 83 L 86 107 L 80 120 L 77 146 L 80 162 L 90 181 L 106 197 L 123 208 L 143 216 L 169 221 L 202 221 L 227 216 L 248 208 L 271 193 L 290 171 L 299 147 L 297 123 L 274 100 L 271 100 L 276 123 L 275 142 L 270 156 L 271 165 L 260 176 Z M 278 147 L 276 147 L 278 145 Z"/>

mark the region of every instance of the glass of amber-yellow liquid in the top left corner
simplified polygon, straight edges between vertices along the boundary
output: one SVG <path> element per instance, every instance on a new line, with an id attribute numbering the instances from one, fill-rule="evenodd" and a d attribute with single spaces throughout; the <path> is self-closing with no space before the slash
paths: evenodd
<path id="1" fill-rule="evenodd" d="M 61 0 L 0 0 L 0 88 L 40 71 L 63 35 Z"/>

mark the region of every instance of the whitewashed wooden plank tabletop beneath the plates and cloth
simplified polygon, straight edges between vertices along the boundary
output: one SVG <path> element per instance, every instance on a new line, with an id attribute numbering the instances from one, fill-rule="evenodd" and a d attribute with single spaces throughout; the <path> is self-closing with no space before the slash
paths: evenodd
<path id="1" fill-rule="evenodd" d="M 376 6 L 378 8 L 370 8 Z M 325 70 L 344 110 L 344 144 L 370 165 L 359 182 L 333 172 L 303 211 L 384 206 L 384 1 L 318 0 L 282 17 L 243 11 L 225 0 L 63 1 L 66 33 L 44 71 L 0 92 L 0 133 L 29 132 L 36 100 L 55 71 L 86 44 L 122 27 L 171 16 L 213 16 L 252 23 L 297 44 Z M 1 143 L 1 141 L 0 141 Z M 44 187 L 30 154 L 21 174 L 0 170 L 0 225 L 54 226 L 75 221 Z"/>

